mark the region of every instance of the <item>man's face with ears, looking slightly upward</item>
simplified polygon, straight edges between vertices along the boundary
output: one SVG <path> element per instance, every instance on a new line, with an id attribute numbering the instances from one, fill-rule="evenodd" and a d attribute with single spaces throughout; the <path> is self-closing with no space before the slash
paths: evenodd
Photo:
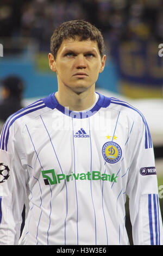
<path id="1" fill-rule="evenodd" d="M 55 60 L 49 53 L 49 66 L 57 72 L 58 87 L 66 86 L 76 93 L 95 85 L 104 65 L 105 56 L 101 59 L 96 41 L 63 40 Z"/>

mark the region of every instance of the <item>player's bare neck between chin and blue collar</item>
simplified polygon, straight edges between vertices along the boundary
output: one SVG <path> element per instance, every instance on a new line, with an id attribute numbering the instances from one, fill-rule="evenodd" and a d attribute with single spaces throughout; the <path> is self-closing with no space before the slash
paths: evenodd
<path id="1" fill-rule="evenodd" d="M 82 93 L 70 89 L 58 90 L 55 97 L 60 105 L 68 107 L 71 111 L 83 111 L 90 108 L 96 100 L 95 86 Z"/>

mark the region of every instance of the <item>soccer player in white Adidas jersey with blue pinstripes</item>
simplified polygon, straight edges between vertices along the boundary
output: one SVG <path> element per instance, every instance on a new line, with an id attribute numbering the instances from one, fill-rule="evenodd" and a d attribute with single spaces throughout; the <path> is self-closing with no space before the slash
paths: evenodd
<path id="1" fill-rule="evenodd" d="M 1 134 L 1 245 L 128 245 L 126 195 L 134 245 L 162 244 L 146 119 L 95 92 L 106 58 L 101 32 L 64 22 L 48 58 L 58 92 L 12 114 Z"/>

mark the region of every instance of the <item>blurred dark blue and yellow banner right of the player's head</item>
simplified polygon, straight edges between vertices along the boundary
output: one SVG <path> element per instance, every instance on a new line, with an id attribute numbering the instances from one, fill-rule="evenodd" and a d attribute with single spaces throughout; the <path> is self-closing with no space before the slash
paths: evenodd
<path id="1" fill-rule="evenodd" d="M 133 98 L 162 97 L 163 56 L 159 42 L 133 40 L 114 47 L 120 92 Z"/>

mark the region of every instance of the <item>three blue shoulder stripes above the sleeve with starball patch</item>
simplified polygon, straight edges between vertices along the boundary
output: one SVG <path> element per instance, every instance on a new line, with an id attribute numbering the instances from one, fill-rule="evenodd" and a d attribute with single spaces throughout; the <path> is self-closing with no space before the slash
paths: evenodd
<path id="1" fill-rule="evenodd" d="M 42 106 L 40 106 L 40 105 L 42 105 Z M 34 107 L 36 107 L 36 108 L 34 108 Z M 16 119 L 23 117 L 23 115 L 32 113 L 32 112 L 34 112 L 38 109 L 44 108 L 44 107 L 46 107 L 46 105 L 42 102 L 42 100 L 39 100 L 25 108 L 20 109 L 20 111 L 17 111 L 16 113 L 10 115 L 10 117 L 5 122 L 3 130 L 2 130 L 0 149 L 7 151 L 7 144 L 8 144 L 8 139 L 9 139 L 9 129 Z"/>

